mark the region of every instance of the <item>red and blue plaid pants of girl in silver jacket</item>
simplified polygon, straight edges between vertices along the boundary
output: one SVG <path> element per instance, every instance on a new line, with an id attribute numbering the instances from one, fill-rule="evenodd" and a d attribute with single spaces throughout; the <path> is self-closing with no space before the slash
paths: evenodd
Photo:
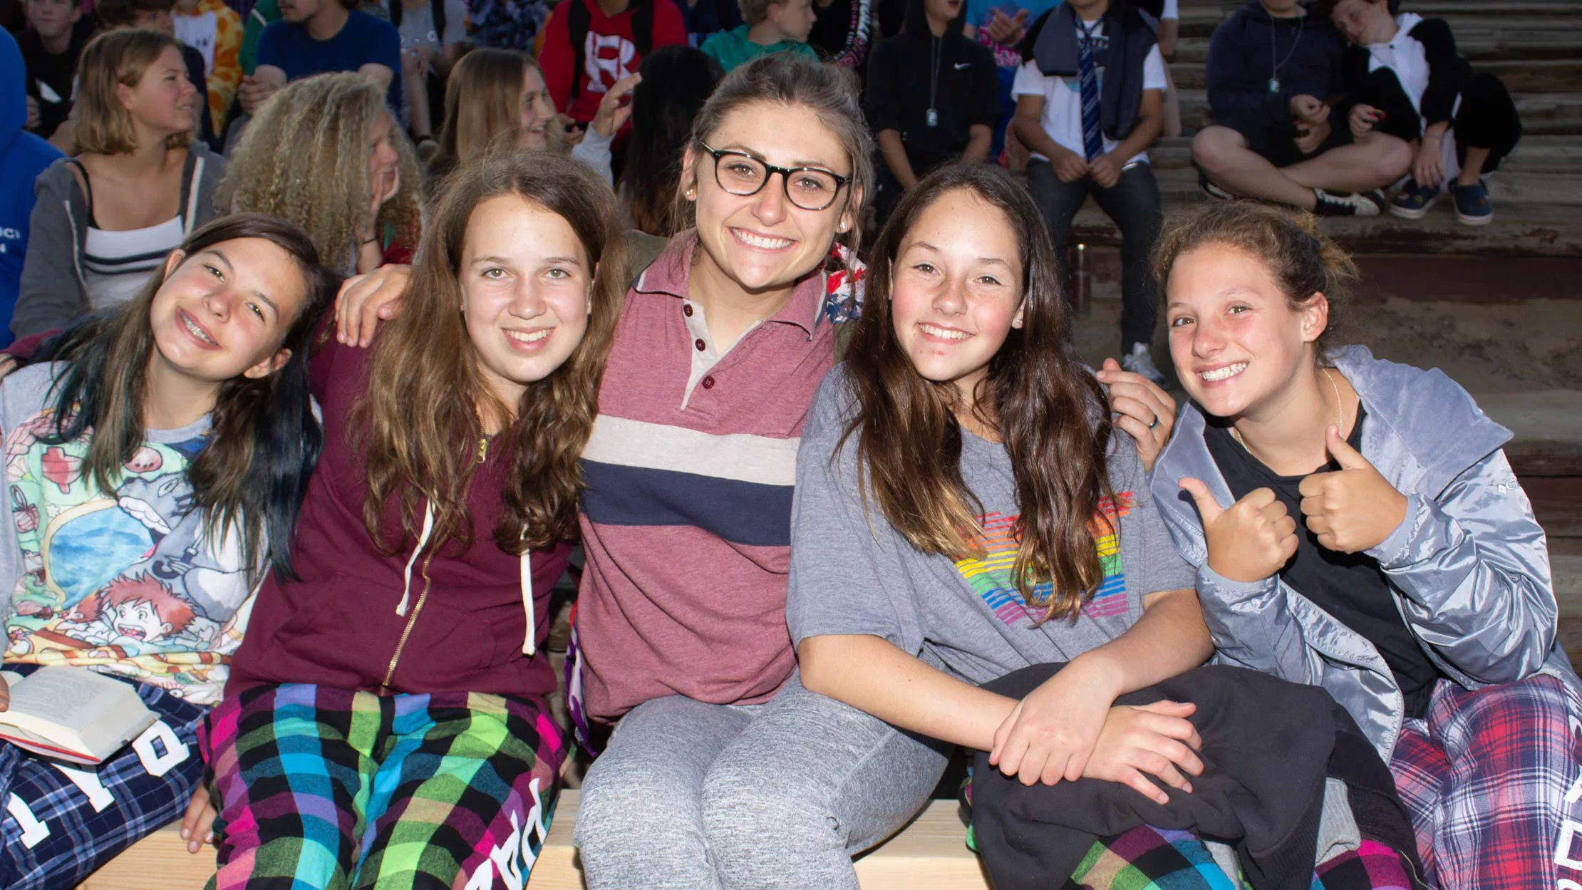
<path id="1" fill-rule="evenodd" d="M 1582 888 L 1582 696 L 1569 684 L 1441 680 L 1391 771 L 1441 890 Z"/>

